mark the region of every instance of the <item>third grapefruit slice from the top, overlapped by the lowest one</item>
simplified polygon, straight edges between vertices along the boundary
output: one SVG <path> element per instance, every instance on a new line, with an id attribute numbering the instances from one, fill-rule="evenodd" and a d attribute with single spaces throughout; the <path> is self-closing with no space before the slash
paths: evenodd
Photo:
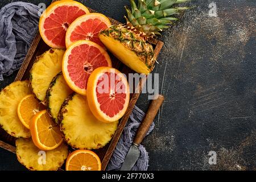
<path id="1" fill-rule="evenodd" d="M 68 47 L 63 57 L 63 76 L 76 93 L 86 95 L 90 74 L 98 67 L 112 67 L 108 52 L 89 40 L 79 40 Z"/>

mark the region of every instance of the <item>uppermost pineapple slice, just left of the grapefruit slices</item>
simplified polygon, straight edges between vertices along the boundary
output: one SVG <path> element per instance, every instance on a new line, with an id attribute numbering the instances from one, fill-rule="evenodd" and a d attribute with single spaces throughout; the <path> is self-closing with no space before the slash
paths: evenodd
<path id="1" fill-rule="evenodd" d="M 64 53 L 65 51 L 61 49 L 49 49 L 37 57 L 37 61 L 30 71 L 32 91 L 42 102 L 46 99 L 46 92 L 53 77 L 61 72 Z"/>

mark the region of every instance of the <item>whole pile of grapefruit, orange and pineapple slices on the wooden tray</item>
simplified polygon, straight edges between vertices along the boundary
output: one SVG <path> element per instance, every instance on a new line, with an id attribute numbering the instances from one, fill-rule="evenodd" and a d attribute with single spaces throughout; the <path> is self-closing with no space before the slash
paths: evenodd
<path id="1" fill-rule="evenodd" d="M 41 16 L 40 34 L 51 49 L 36 58 L 30 81 L 0 93 L 0 125 L 19 138 L 16 155 L 28 169 L 57 170 L 68 158 L 68 171 L 101 170 L 89 150 L 108 144 L 130 99 L 126 77 L 111 68 L 98 37 L 110 26 L 76 1 L 52 3 Z M 79 150 L 68 156 L 67 144 Z"/>

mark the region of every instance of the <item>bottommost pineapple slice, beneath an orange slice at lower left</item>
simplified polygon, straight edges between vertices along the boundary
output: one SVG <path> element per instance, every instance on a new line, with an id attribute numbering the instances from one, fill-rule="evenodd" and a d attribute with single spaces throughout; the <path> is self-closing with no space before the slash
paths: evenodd
<path id="1" fill-rule="evenodd" d="M 16 156 L 21 164 L 31 171 L 56 171 L 68 157 L 68 146 L 61 144 L 50 151 L 42 151 L 32 139 L 16 140 Z"/>

